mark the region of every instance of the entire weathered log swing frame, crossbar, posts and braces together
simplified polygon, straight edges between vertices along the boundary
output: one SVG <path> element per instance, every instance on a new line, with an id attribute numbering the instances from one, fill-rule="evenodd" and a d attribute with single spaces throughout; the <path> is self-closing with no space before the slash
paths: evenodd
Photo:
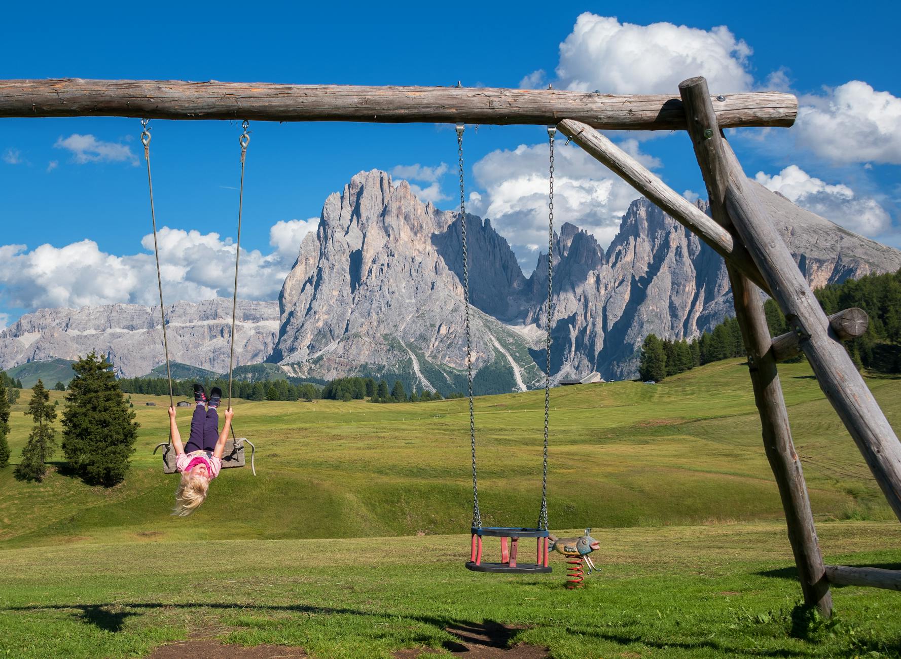
<path id="1" fill-rule="evenodd" d="M 899 573 L 824 565 L 776 363 L 798 351 L 805 353 L 827 399 L 901 519 L 901 442 L 840 344 L 866 330 L 866 314 L 851 309 L 826 318 L 722 132 L 791 126 L 797 115 L 796 97 L 778 92 L 712 96 L 703 77 L 684 81 L 679 92 L 674 97 L 461 86 L 0 80 L 0 117 L 559 124 L 560 131 L 582 149 L 724 257 L 748 352 L 764 447 L 786 512 L 805 603 L 829 615 L 829 582 L 897 590 Z M 687 131 L 705 178 L 713 219 L 597 130 Z M 792 328 L 789 334 L 769 338 L 761 291 L 769 293 L 786 314 Z"/>

